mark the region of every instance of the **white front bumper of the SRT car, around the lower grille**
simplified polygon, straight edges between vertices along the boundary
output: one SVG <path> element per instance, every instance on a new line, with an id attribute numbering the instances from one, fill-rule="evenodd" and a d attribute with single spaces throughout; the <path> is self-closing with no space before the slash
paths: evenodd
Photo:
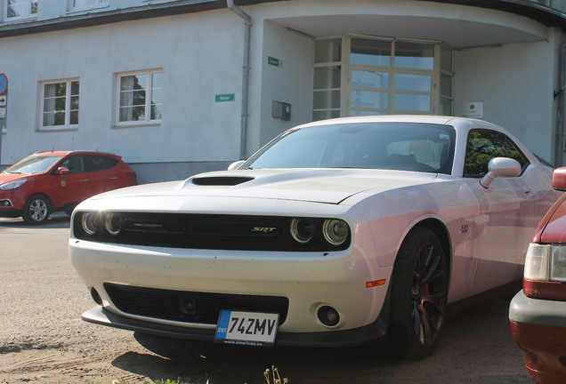
<path id="1" fill-rule="evenodd" d="M 140 297 L 145 297 L 143 292 L 174 292 L 183 301 L 185 292 L 271 296 L 288 300 L 287 317 L 279 324 L 278 333 L 295 333 L 290 340 L 301 340 L 302 335 L 309 339 L 308 335 L 313 333 L 328 333 L 324 337 L 317 336 L 316 340 L 333 339 L 330 333 L 349 334 L 349 330 L 368 326 L 368 331 L 360 332 L 353 341 L 336 336 L 339 340 L 336 343 L 345 344 L 359 344 L 361 339 L 373 340 L 383 332 L 381 327 L 374 329 L 375 326 L 370 324 L 374 324 L 382 312 L 392 267 L 378 266 L 375 252 L 371 251 L 360 246 L 324 253 L 214 251 L 102 244 L 72 237 L 69 240 L 70 258 L 77 273 L 87 287 L 98 292 L 100 300 L 97 303 L 101 303 L 110 316 L 115 315 L 111 319 L 120 319 L 117 322 L 102 321 L 95 316 L 93 319 L 100 321 L 93 320 L 94 323 L 121 327 L 114 324 L 141 322 L 143 332 L 174 329 L 179 334 L 214 334 L 216 319 L 202 323 L 162 316 L 160 312 L 152 315 L 155 312 L 151 310 L 136 313 L 126 309 L 113 300 L 117 298 L 109 292 L 112 286 L 125 290 L 133 287 L 137 302 Z M 376 280 L 383 280 L 385 284 L 367 287 L 368 282 Z M 336 308 L 340 323 L 334 326 L 322 324 L 317 315 L 322 306 Z M 92 316 L 85 317 L 90 319 Z M 133 325 L 127 325 L 126 329 L 135 330 L 135 326 L 130 326 Z M 369 334 L 369 330 L 376 333 Z M 283 340 L 286 338 L 283 336 Z M 294 343 L 301 344 L 299 341 Z M 305 343 L 309 344 L 308 341 Z"/>

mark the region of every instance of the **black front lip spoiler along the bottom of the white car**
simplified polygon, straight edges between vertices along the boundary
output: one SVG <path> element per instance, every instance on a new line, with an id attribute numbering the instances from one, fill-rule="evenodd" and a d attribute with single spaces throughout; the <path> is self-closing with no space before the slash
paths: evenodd
<path id="1" fill-rule="evenodd" d="M 174 339 L 214 341 L 214 329 L 186 328 L 169 324 L 158 324 L 148 321 L 120 316 L 96 306 L 81 316 L 85 322 L 106 325 L 133 332 L 149 333 Z M 356 347 L 383 339 L 385 326 L 379 321 L 344 331 L 334 332 L 280 332 L 275 340 L 276 345 L 311 347 L 311 348 L 344 348 Z"/>

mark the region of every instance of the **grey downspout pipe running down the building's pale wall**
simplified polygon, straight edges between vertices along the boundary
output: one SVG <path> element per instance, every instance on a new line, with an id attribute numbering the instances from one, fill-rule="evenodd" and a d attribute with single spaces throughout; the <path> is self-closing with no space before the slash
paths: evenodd
<path id="1" fill-rule="evenodd" d="M 228 9 L 235 12 L 244 20 L 244 63 L 242 65 L 242 115 L 240 127 L 239 158 L 247 158 L 247 108 L 249 99 L 249 56 L 250 56 L 250 31 L 252 29 L 252 18 L 234 4 L 234 0 L 227 0 Z"/>

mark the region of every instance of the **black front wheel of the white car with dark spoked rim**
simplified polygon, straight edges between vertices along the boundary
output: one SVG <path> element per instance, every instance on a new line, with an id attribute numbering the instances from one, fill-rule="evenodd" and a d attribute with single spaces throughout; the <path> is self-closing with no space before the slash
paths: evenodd
<path id="1" fill-rule="evenodd" d="M 393 356 L 422 359 L 440 340 L 448 298 L 448 268 L 439 237 L 415 228 L 401 244 L 392 273 L 385 343 Z"/>

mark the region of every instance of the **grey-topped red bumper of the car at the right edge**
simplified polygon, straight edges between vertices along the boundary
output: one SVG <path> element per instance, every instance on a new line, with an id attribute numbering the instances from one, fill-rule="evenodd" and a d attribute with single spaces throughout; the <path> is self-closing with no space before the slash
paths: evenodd
<path id="1" fill-rule="evenodd" d="M 562 384 L 566 375 L 566 302 L 531 299 L 521 291 L 509 306 L 515 343 L 539 384 Z"/>

